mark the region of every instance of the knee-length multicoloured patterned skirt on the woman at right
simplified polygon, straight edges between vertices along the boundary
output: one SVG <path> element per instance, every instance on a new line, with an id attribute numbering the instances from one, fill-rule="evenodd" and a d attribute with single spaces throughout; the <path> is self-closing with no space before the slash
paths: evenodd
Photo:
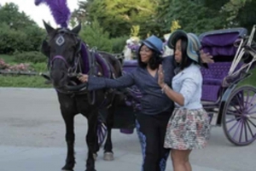
<path id="1" fill-rule="evenodd" d="M 176 108 L 166 128 L 165 148 L 201 149 L 210 138 L 210 121 L 204 109 Z"/>

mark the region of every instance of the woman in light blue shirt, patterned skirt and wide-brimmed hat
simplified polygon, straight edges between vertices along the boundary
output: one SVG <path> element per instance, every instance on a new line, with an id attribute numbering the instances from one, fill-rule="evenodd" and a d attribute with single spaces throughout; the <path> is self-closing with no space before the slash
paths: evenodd
<path id="1" fill-rule="evenodd" d="M 189 153 L 193 149 L 204 148 L 210 136 L 207 111 L 201 105 L 201 43 L 195 34 L 178 30 L 172 33 L 168 46 L 174 48 L 177 68 L 172 87 L 165 83 L 162 66 L 158 71 L 162 91 L 175 102 L 164 146 L 172 149 L 174 171 L 191 171 Z"/>

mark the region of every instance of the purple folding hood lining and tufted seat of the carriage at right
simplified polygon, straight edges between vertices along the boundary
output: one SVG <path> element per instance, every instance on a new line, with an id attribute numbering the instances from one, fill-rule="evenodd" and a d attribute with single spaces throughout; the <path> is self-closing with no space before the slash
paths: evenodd
<path id="1" fill-rule="evenodd" d="M 201 68 L 203 77 L 201 100 L 217 101 L 224 77 L 228 76 L 232 60 L 237 48 L 234 43 L 245 37 L 245 28 L 233 28 L 217 31 L 208 31 L 200 35 L 204 52 L 212 54 L 214 63 L 207 68 Z"/>

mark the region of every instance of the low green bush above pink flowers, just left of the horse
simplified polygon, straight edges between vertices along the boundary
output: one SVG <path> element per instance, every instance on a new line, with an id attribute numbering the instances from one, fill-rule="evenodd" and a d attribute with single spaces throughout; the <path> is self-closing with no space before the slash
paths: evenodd
<path id="1" fill-rule="evenodd" d="M 15 62 L 24 63 L 24 62 L 31 62 L 31 63 L 47 63 L 47 57 L 44 54 L 31 51 L 31 52 L 15 52 Z"/>

